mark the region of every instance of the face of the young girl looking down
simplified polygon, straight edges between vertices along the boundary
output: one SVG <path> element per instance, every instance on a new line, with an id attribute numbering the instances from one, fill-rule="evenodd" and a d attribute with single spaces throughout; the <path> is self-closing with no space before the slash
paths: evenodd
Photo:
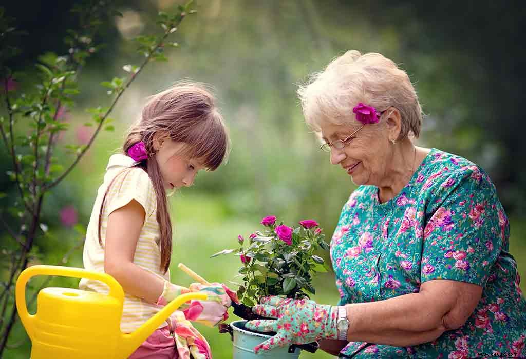
<path id="1" fill-rule="evenodd" d="M 180 155 L 186 144 L 165 139 L 159 145 L 155 159 L 159 165 L 165 189 L 190 187 L 194 183 L 197 172 L 205 167 L 200 159 L 189 159 Z"/>

